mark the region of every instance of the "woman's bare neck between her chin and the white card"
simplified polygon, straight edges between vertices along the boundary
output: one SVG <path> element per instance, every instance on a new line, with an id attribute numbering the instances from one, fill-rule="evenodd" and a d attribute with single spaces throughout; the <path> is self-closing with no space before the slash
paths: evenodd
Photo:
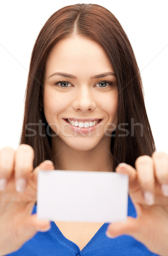
<path id="1" fill-rule="evenodd" d="M 109 137 L 87 151 L 71 148 L 60 137 L 56 138 L 52 140 L 52 154 L 55 156 L 53 162 L 57 170 L 113 171 Z"/>

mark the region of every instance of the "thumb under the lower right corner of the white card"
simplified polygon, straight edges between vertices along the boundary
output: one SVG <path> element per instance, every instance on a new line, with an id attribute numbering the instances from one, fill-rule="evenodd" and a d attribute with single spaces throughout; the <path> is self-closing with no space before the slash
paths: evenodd
<path id="1" fill-rule="evenodd" d="M 139 225 L 137 219 L 127 217 L 126 222 L 114 222 L 109 224 L 106 230 L 106 235 L 109 238 L 114 238 L 116 236 L 121 236 L 124 234 L 135 237 L 138 229 Z"/>

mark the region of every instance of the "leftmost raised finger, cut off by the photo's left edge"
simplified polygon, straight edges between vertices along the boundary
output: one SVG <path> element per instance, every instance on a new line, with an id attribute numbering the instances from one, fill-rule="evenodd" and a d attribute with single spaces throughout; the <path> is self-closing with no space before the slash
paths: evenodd
<path id="1" fill-rule="evenodd" d="M 0 190 L 4 190 L 12 175 L 14 167 L 14 148 L 4 147 L 0 150 Z"/>

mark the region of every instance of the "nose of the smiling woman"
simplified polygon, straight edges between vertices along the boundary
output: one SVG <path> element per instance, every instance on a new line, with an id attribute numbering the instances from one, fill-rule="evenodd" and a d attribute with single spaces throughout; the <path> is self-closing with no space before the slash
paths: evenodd
<path id="1" fill-rule="evenodd" d="M 81 86 L 81 88 L 78 90 L 78 93 L 75 95 L 75 99 L 73 99 L 72 108 L 75 111 L 81 111 L 84 113 L 95 110 L 95 97 L 87 86 Z"/>

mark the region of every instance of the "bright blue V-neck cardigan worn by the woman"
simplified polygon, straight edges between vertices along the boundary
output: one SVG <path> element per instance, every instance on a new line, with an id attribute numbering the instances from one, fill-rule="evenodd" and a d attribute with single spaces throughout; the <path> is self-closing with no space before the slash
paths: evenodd
<path id="1" fill-rule="evenodd" d="M 36 206 L 32 213 L 36 212 Z M 128 215 L 136 217 L 136 211 L 128 197 Z M 9 256 L 156 256 L 145 245 L 131 236 L 110 239 L 105 235 L 109 223 L 104 223 L 88 244 L 80 250 L 77 244 L 68 240 L 51 221 L 47 232 L 38 232 L 32 239 Z"/>

